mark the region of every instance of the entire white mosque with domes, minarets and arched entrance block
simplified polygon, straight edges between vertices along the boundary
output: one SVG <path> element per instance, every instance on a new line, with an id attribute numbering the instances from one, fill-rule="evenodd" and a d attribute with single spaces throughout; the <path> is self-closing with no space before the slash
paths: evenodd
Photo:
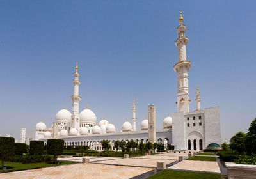
<path id="1" fill-rule="evenodd" d="M 186 59 L 186 45 L 188 38 L 185 36 L 186 26 L 183 24 L 180 12 L 179 26 L 177 27 L 178 38 L 175 45 L 178 49 L 178 61 L 173 66 L 177 73 L 177 112 L 172 113 L 163 120 L 163 128 L 156 129 L 156 108 L 148 106 L 148 120 L 145 118 L 140 124 L 140 130 L 136 128 L 136 106 L 132 104 L 131 123 L 125 121 L 120 132 L 116 131 L 115 125 L 108 120 L 100 120 L 91 109 L 84 109 L 79 113 L 79 72 L 76 64 L 74 72 L 74 92 L 72 99 L 72 113 L 67 109 L 61 109 L 56 113 L 56 121 L 51 128 L 40 121 L 36 124 L 35 131 L 26 132 L 22 128 L 21 142 L 29 144 L 31 140 L 42 140 L 58 138 L 65 141 L 65 146 L 88 145 L 93 150 L 102 150 L 100 141 L 108 139 L 115 150 L 115 141 L 143 141 L 147 143 L 157 142 L 161 144 L 172 144 L 175 150 L 202 150 L 203 148 L 220 147 L 220 107 L 200 108 L 200 93 L 196 88 L 195 111 L 189 111 L 189 88 L 188 71 L 191 61 Z"/>

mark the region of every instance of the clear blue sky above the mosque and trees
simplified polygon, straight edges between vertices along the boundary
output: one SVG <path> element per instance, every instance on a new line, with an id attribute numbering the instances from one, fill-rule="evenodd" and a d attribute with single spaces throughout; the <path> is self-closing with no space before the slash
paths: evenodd
<path id="1" fill-rule="evenodd" d="M 80 110 L 120 130 L 137 128 L 156 105 L 157 128 L 177 111 L 176 28 L 182 10 L 191 111 L 220 106 L 221 137 L 247 131 L 256 117 L 255 1 L 0 1 L 0 134 L 51 127 L 72 110 L 73 72 L 81 74 Z"/>

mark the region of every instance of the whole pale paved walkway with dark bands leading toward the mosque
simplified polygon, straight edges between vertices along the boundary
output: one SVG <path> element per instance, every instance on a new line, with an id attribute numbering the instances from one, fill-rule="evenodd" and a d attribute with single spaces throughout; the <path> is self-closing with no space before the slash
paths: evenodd
<path id="1" fill-rule="evenodd" d="M 65 179 L 65 178 L 147 178 L 159 172 L 156 162 L 166 162 L 168 169 L 183 171 L 200 171 L 220 173 L 217 162 L 183 160 L 179 162 L 179 156 L 188 157 L 188 153 L 163 153 L 157 155 L 145 155 L 123 159 L 118 157 L 88 157 L 88 164 L 71 164 L 67 166 L 47 167 L 0 174 L 0 178 L 28 178 L 28 179 Z M 214 156 L 211 156 L 214 157 Z M 83 157 L 59 157 L 58 160 L 82 162 Z"/>

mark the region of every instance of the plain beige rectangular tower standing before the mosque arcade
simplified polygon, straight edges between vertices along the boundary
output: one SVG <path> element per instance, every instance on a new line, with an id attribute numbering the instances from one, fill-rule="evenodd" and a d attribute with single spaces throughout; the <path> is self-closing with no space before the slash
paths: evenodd
<path id="1" fill-rule="evenodd" d="M 156 107 L 148 106 L 148 142 L 156 143 Z"/>

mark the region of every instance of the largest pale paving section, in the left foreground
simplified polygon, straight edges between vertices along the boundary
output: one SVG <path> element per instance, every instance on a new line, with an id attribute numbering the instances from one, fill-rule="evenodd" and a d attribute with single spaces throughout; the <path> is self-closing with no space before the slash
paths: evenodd
<path id="1" fill-rule="evenodd" d="M 151 171 L 145 167 L 109 166 L 102 164 L 72 164 L 67 166 L 47 167 L 0 174 L 1 179 L 126 179 Z"/>

